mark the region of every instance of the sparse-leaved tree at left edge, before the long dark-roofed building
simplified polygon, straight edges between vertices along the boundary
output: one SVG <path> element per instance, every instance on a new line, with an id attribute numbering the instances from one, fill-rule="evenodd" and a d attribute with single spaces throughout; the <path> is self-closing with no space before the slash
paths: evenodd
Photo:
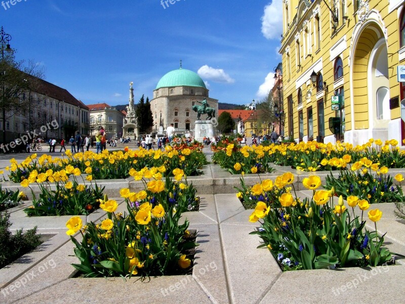
<path id="1" fill-rule="evenodd" d="M 6 140 L 6 122 L 14 115 L 23 115 L 30 107 L 29 92 L 35 91 L 44 71 L 34 61 L 16 61 L 15 50 L 0 44 L 0 116 L 2 140 Z M 28 114 L 30 115 L 30 113 Z"/>

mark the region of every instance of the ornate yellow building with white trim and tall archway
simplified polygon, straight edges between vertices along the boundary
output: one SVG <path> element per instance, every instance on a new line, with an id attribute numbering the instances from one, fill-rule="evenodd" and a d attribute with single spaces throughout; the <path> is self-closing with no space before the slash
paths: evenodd
<path id="1" fill-rule="evenodd" d="M 353 144 L 405 138 L 405 85 L 397 80 L 405 65 L 404 6 L 284 0 L 286 136 Z"/>

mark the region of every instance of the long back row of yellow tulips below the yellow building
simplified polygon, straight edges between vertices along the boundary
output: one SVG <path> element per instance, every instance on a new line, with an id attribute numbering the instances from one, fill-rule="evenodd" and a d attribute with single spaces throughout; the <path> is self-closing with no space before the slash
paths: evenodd
<path id="1" fill-rule="evenodd" d="M 370 139 L 366 144 L 353 146 L 337 142 L 323 144 L 316 141 L 299 144 L 270 144 L 240 146 L 232 138 L 223 139 L 213 146 L 213 160 L 232 174 L 271 172 L 268 163 L 288 166 L 300 171 L 331 171 L 345 169 L 348 163 L 378 164 L 379 167 L 404 168 L 405 151 L 397 147 L 398 141 Z M 238 165 L 237 165 L 238 164 Z M 234 166 L 240 169 L 236 170 Z M 253 169 L 253 168 L 257 169 Z M 253 169 L 253 170 L 252 170 Z"/>

